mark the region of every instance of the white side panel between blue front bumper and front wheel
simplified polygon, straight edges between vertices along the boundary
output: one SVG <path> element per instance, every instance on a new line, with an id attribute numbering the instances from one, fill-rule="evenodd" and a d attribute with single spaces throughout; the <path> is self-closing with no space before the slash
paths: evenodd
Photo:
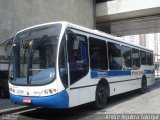
<path id="1" fill-rule="evenodd" d="M 88 74 L 71 85 L 69 90 L 69 107 L 94 101 L 98 81 L 99 79 L 91 79 L 90 74 Z"/>

